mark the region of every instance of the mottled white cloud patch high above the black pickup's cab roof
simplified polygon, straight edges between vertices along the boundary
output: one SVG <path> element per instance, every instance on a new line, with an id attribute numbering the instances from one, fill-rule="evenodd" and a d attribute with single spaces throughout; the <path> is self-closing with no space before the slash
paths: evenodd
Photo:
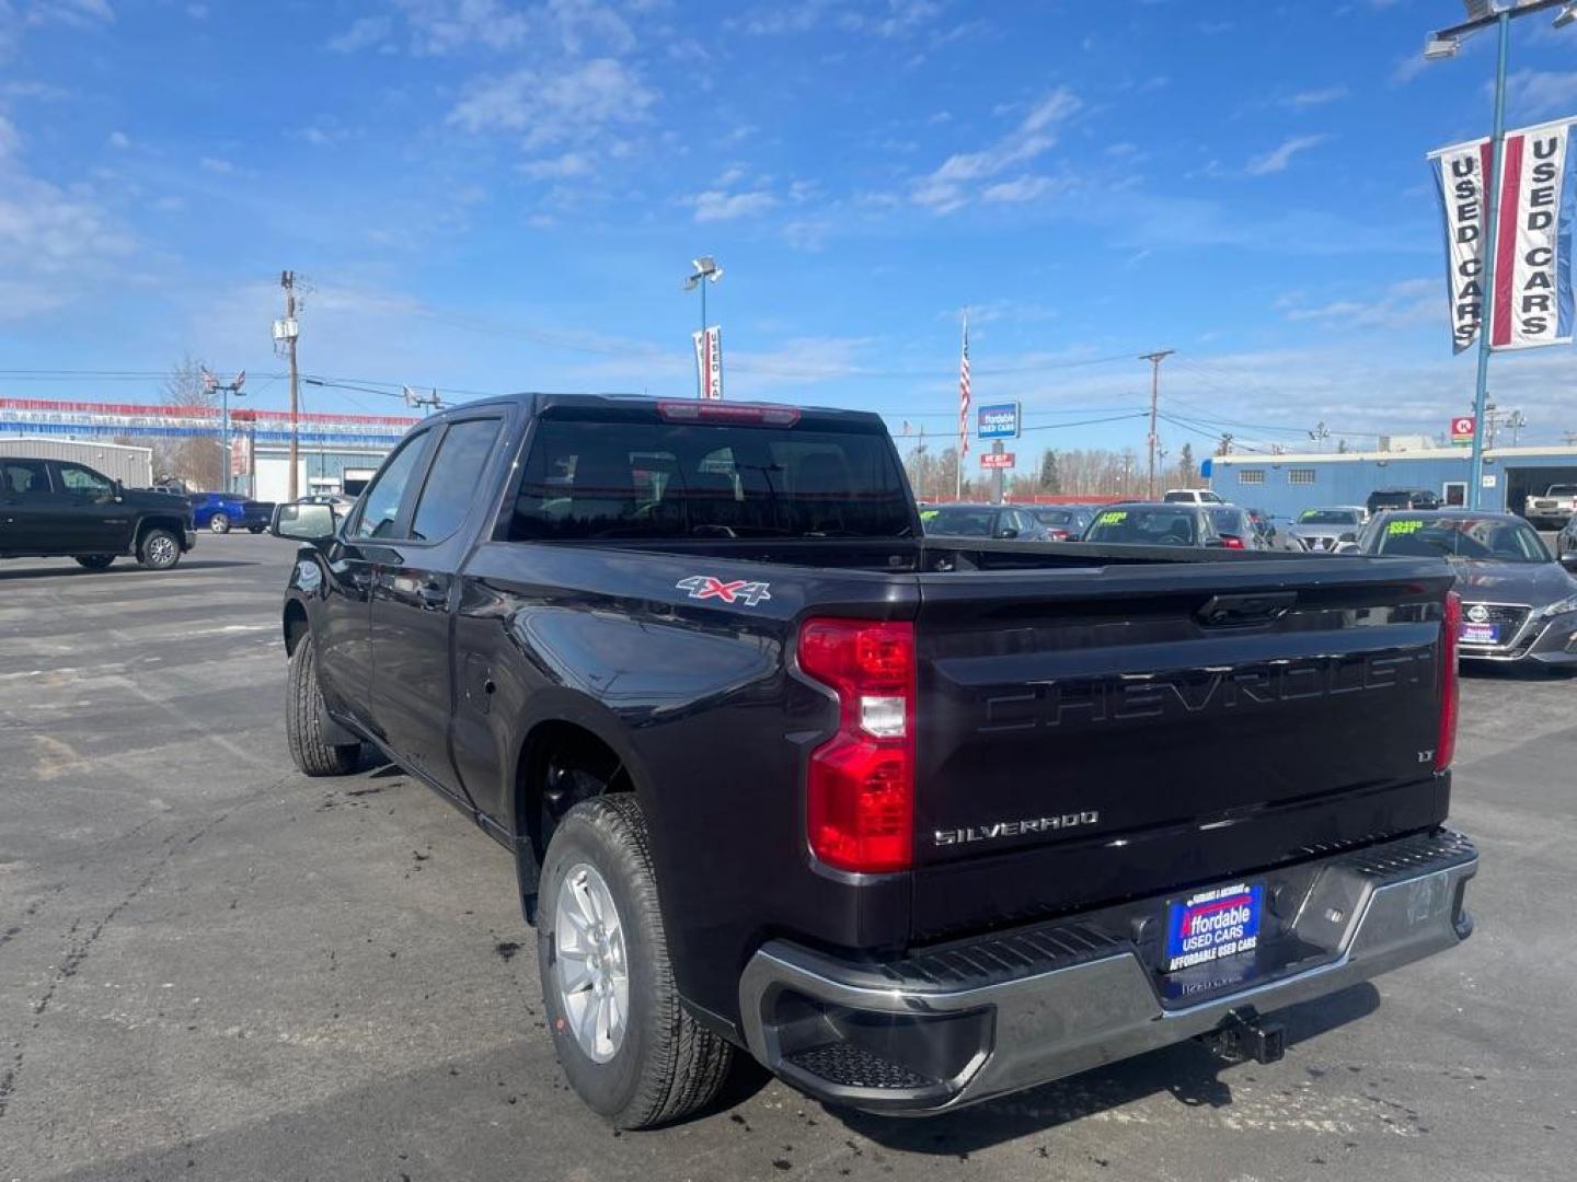
<path id="1" fill-rule="evenodd" d="M 640 123 L 656 102 L 640 77 L 613 58 L 593 58 L 557 74 L 525 68 L 473 87 L 449 112 L 465 131 L 519 131 L 527 147 L 583 142 Z"/>

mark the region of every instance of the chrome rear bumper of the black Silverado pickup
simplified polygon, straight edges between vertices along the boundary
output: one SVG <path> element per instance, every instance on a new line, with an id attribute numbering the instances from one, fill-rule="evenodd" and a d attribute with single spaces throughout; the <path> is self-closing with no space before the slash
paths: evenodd
<path id="1" fill-rule="evenodd" d="M 1301 864 L 1279 897 L 1285 963 L 1192 994 L 1156 968 L 1158 931 L 1105 913 L 852 963 L 771 941 L 740 983 L 746 1042 L 768 1069 L 833 1103 L 924 1114 L 1003 1095 L 1208 1034 L 1249 1009 L 1334 993 L 1468 938 L 1478 853 L 1437 831 Z M 1266 878 L 1266 876 L 1258 876 Z M 1276 875 L 1268 876 L 1276 887 Z M 1151 900 L 1165 914 L 1167 900 Z M 1146 905 L 1137 905 L 1140 909 Z M 1164 920 L 1162 920 L 1164 922 Z M 1180 977 L 1184 974 L 1173 974 Z"/>

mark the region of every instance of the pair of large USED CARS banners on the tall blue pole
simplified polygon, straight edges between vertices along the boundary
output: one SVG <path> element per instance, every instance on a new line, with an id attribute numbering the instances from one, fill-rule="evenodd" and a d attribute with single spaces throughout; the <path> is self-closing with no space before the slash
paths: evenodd
<path id="1" fill-rule="evenodd" d="M 1577 154 L 1572 120 L 1506 134 L 1500 158 L 1495 290 L 1484 290 L 1487 249 L 1484 178 L 1490 142 L 1430 153 L 1446 219 L 1451 345 L 1460 353 L 1490 323 L 1492 348 L 1536 348 L 1572 340 L 1572 211 Z M 1487 309 L 1487 315 L 1486 315 Z"/>

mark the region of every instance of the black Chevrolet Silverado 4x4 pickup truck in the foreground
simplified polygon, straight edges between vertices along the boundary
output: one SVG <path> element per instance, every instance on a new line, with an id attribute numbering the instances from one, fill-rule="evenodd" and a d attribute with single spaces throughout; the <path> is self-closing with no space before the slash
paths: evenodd
<path id="1" fill-rule="evenodd" d="M 1273 1059 L 1471 930 L 1433 559 L 924 537 L 874 414 L 558 394 L 273 530 L 296 766 L 374 747 L 513 853 L 617 1125 L 735 1048 L 877 1113 Z"/>

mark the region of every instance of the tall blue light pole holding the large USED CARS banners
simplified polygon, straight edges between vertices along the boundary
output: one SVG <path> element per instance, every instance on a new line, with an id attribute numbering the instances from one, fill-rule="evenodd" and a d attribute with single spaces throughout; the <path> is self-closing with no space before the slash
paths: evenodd
<path id="1" fill-rule="evenodd" d="M 1479 304 L 1479 364 L 1473 385 L 1473 462 L 1468 481 L 1468 507 L 1478 509 L 1484 490 L 1484 403 L 1489 394 L 1489 355 L 1495 310 L 1495 247 L 1500 236 L 1500 153 L 1506 140 L 1506 57 L 1511 46 L 1512 17 L 1531 16 L 1560 6 L 1555 27 L 1577 20 L 1577 0 L 1519 0 L 1511 8 L 1498 8 L 1497 0 L 1463 0 L 1468 19 L 1460 25 L 1430 33 L 1424 41 L 1424 58 L 1437 61 L 1456 57 L 1462 38 L 1495 25 L 1495 136 L 1490 140 L 1489 169 L 1484 177 L 1484 299 Z"/>

